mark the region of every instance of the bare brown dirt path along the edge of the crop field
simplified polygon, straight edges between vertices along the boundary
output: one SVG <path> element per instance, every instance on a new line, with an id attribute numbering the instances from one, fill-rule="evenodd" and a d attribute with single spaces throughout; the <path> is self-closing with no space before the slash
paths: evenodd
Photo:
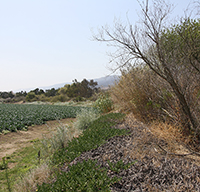
<path id="1" fill-rule="evenodd" d="M 62 119 L 62 124 L 72 124 L 74 119 Z M 47 125 L 55 130 L 59 126 L 58 121 L 48 121 Z M 42 135 L 50 135 L 50 130 L 46 124 L 30 126 L 28 131 L 10 132 L 6 135 L 0 135 L 0 161 L 6 155 L 11 155 L 13 152 L 31 145 L 32 140 L 42 139 Z"/>

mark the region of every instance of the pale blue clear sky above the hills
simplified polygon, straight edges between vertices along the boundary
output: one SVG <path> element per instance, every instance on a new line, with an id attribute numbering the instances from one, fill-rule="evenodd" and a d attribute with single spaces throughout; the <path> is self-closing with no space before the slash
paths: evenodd
<path id="1" fill-rule="evenodd" d="M 170 2 L 182 15 L 192 1 Z M 137 0 L 0 0 L 0 91 L 109 75 L 113 49 L 92 35 L 139 11 Z"/>

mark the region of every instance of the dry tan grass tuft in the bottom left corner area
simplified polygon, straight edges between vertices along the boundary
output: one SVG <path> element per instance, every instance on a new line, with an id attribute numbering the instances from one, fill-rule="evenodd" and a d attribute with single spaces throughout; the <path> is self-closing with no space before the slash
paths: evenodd
<path id="1" fill-rule="evenodd" d="M 28 172 L 21 181 L 14 186 L 14 192 L 35 192 L 37 184 L 50 182 L 51 170 L 47 164 L 42 164 Z"/>

